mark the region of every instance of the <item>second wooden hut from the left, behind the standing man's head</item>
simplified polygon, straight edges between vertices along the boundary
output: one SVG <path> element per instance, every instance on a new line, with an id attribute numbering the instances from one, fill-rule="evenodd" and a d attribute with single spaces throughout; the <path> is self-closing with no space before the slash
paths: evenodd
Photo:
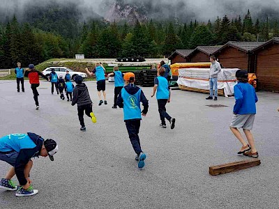
<path id="1" fill-rule="evenodd" d="M 209 62 L 209 56 L 213 55 L 223 46 L 198 46 L 188 55 L 190 63 Z"/>

